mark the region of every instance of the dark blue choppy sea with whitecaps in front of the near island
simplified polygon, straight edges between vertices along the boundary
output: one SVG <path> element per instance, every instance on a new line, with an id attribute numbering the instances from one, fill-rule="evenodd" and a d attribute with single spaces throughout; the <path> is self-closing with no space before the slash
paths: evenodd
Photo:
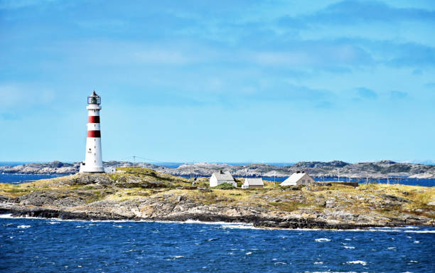
<path id="1" fill-rule="evenodd" d="M 0 218 L 1 272 L 434 272 L 435 229 Z"/>

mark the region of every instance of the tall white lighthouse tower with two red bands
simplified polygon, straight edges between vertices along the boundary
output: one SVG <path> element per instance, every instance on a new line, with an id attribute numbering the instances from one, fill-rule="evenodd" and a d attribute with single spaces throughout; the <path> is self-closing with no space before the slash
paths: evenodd
<path id="1" fill-rule="evenodd" d="M 92 92 L 87 97 L 87 139 L 85 161 L 80 165 L 80 173 L 104 173 L 101 156 L 100 110 L 101 97 Z"/>

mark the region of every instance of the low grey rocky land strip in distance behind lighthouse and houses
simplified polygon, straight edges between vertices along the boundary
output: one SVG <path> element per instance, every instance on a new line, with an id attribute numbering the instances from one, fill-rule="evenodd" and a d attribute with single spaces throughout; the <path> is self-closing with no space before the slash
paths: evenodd
<path id="1" fill-rule="evenodd" d="M 245 176 L 290 176 L 296 171 L 306 171 L 316 177 L 347 178 L 435 178 L 435 166 L 424 164 L 397 163 L 394 161 L 377 161 L 349 164 L 343 161 L 306 161 L 289 166 L 273 166 L 268 164 L 246 164 L 232 166 L 229 164 L 195 163 L 183 164 L 178 168 L 168 168 L 156 164 L 128 161 L 107 161 L 104 167 L 139 166 L 173 176 L 210 176 L 214 171 L 222 170 L 236 177 Z M 0 173 L 28 174 L 73 174 L 80 168 L 80 162 L 73 164 L 53 161 L 50 163 L 24 164 L 19 166 L 0 166 Z"/>

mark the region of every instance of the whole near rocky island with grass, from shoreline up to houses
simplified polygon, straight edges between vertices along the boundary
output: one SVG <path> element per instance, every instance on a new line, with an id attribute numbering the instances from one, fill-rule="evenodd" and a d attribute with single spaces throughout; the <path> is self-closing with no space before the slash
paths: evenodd
<path id="1" fill-rule="evenodd" d="M 208 178 L 150 168 L 0 183 L 0 213 L 77 220 L 252 223 L 268 228 L 349 229 L 435 225 L 435 188 L 338 183 L 281 188 L 208 188 Z M 241 183 L 242 179 L 237 178 Z"/>

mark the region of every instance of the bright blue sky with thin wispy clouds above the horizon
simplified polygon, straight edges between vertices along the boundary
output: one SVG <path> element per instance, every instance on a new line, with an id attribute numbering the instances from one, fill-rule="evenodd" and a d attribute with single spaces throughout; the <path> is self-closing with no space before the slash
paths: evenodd
<path id="1" fill-rule="evenodd" d="M 433 1 L 0 0 L 0 161 L 435 160 Z"/>

